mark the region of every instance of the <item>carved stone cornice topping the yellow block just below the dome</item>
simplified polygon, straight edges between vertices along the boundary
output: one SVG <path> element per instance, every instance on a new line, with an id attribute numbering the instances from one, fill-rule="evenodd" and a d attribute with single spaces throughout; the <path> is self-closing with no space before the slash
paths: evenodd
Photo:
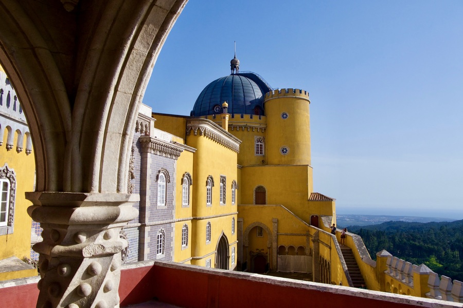
<path id="1" fill-rule="evenodd" d="M 241 140 L 210 120 L 201 118 L 187 120 L 186 133 L 188 136 L 191 134 L 191 131 L 193 131 L 194 136 L 197 136 L 199 133 L 200 136 L 207 137 L 217 143 L 220 143 L 230 150 L 237 153 L 240 151 Z"/>

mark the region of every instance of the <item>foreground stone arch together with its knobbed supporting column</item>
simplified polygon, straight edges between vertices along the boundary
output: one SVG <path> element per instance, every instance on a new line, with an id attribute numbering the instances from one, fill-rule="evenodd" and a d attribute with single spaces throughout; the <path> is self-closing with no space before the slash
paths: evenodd
<path id="1" fill-rule="evenodd" d="M 96 304 L 103 281 L 114 283 L 103 303 L 118 304 L 120 267 L 113 274 L 110 267 L 120 263 L 121 240 L 114 235 L 136 217 L 136 197 L 127 194 L 133 127 L 154 63 L 186 0 L 76 3 L 0 3 L 0 63 L 22 104 L 35 151 L 37 191 L 27 195 L 34 204 L 28 213 L 56 239 L 41 243 L 37 306 L 75 305 L 76 299 L 47 291 L 56 269 L 46 264 L 56 245 L 64 247 L 54 256 L 60 263 L 73 249 L 81 256 L 68 262 L 74 274 L 92 257 L 104 259 L 105 277 L 90 282 L 92 293 L 79 306 Z M 57 222 L 60 233 L 50 227 Z M 68 228 L 82 223 L 77 233 Z M 85 229 L 108 238 L 113 248 L 83 253 L 97 238 L 86 238 Z M 82 281 L 78 274 L 67 279 Z M 64 280 L 60 287 L 61 295 L 73 288 Z"/>

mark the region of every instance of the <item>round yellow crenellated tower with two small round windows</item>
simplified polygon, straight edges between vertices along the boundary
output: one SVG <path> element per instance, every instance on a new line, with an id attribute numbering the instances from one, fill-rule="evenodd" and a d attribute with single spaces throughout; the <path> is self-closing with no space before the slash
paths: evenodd
<path id="1" fill-rule="evenodd" d="M 311 164 L 309 104 L 309 92 L 300 89 L 265 94 L 269 165 Z"/>

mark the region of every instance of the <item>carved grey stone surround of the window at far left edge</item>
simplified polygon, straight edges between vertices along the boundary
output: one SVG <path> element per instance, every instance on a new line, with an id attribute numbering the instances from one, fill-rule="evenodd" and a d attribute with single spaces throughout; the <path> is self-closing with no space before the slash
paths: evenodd
<path id="1" fill-rule="evenodd" d="M 0 235 L 6 235 L 13 233 L 14 204 L 16 199 L 16 175 L 14 169 L 10 169 L 7 163 L 0 168 L 0 179 L 2 180 L 0 183 L 8 183 L 8 197 L 5 200 L 7 202 L 6 217 L 2 226 L 0 226 Z"/>

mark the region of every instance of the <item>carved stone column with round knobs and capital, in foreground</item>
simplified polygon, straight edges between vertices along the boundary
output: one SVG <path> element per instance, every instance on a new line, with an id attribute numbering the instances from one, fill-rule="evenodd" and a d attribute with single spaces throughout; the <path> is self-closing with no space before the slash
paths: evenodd
<path id="1" fill-rule="evenodd" d="M 137 216 L 138 195 L 29 192 L 43 228 L 37 307 L 119 307 L 120 229 Z"/>

